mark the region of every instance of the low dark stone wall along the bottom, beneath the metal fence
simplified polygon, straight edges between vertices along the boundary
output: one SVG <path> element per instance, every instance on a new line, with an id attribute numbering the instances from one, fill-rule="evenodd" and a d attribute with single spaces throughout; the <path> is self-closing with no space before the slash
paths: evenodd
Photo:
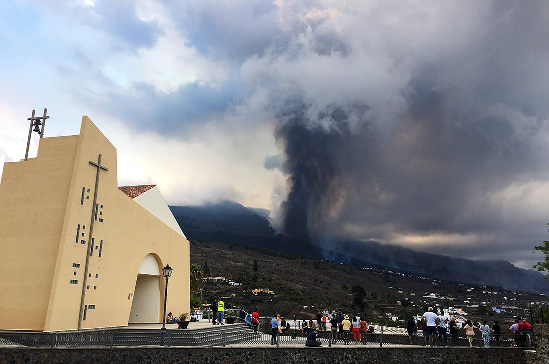
<path id="1" fill-rule="evenodd" d="M 535 359 L 535 358 L 534 358 Z M 529 364 L 522 348 L 0 348 L 0 364 L 79 363 L 79 364 Z M 530 361 L 540 364 L 540 361 Z M 545 364 L 545 362 L 543 362 Z"/>

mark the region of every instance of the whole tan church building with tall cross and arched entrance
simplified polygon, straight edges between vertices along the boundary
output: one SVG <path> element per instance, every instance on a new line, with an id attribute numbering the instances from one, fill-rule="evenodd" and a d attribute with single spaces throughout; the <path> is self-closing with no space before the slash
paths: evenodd
<path id="1" fill-rule="evenodd" d="M 59 331 L 190 312 L 189 243 L 154 185 L 117 186 L 116 149 L 87 117 L 41 138 L 0 183 L 0 329 Z"/>

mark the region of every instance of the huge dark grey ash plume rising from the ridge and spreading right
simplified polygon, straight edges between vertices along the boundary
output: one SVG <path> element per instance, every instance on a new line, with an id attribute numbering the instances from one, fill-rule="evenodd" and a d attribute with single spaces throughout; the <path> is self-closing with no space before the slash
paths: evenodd
<path id="1" fill-rule="evenodd" d="M 548 175 L 536 167 L 549 141 L 547 4 L 378 4 L 377 17 L 353 4 L 295 20 L 283 52 L 243 67 L 278 121 L 282 231 L 436 253 L 482 243 L 479 258 L 528 240 L 501 221 L 528 218 L 507 204 Z"/>

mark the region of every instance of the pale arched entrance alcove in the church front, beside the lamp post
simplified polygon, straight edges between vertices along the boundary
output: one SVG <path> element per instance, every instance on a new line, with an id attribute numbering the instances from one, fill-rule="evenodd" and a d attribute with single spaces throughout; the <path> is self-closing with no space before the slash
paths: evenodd
<path id="1" fill-rule="evenodd" d="M 160 317 L 160 268 L 153 254 L 143 258 L 133 290 L 128 323 L 158 322 Z"/>

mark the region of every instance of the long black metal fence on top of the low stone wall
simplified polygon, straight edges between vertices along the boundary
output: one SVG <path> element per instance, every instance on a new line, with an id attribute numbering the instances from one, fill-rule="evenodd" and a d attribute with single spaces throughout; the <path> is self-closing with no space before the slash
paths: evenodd
<path id="1" fill-rule="evenodd" d="M 361 333 L 356 336 L 353 333 L 332 334 L 329 331 L 321 331 L 317 339 L 322 341 L 324 346 L 332 345 L 406 345 L 408 334 L 396 332 L 374 332 Z M 421 332 L 412 338 L 413 345 L 425 345 Z M 472 337 L 473 346 L 483 346 L 484 341 L 480 335 Z M 289 330 L 283 333 L 254 332 L 243 326 L 243 329 L 233 332 L 197 332 L 197 331 L 167 331 L 165 345 L 167 346 L 226 346 L 237 345 L 305 345 L 306 333 L 299 330 Z M 435 345 L 447 346 L 469 346 L 469 340 L 460 335 L 452 340 L 447 336 L 447 341 L 435 338 Z M 533 337 L 526 334 L 501 335 L 496 338 L 490 336 L 491 346 L 534 346 Z M 160 330 L 138 331 L 130 329 L 115 329 L 110 331 L 87 331 L 87 332 L 22 332 L 22 331 L 0 331 L 0 345 L 23 345 L 23 346 L 158 346 L 160 345 Z"/>

